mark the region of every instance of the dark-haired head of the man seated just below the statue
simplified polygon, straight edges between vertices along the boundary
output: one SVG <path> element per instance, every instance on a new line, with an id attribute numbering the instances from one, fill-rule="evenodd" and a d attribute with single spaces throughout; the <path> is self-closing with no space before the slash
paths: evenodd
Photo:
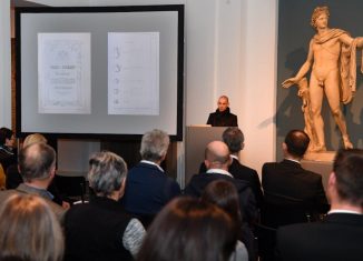
<path id="1" fill-rule="evenodd" d="M 302 130 L 291 130 L 285 137 L 287 152 L 297 158 L 303 158 L 310 143 L 308 135 Z"/>

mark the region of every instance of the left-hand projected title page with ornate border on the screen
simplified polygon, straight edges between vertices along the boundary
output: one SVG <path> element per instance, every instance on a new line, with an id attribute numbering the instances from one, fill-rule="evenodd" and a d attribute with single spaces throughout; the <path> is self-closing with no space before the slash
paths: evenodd
<path id="1" fill-rule="evenodd" d="M 38 33 L 38 112 L 90 114 L 90 33 Z"/>

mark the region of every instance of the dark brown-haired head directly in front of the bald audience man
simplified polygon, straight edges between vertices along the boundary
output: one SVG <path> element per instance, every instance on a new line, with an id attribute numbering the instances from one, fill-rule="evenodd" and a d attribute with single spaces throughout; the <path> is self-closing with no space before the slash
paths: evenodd
<path id="1" fill-rule="evenodd" d="M 216 204 L 228 213 L 236 225 L 242 223 L 239 198 L 236 187 L 227 180 L 210 182 L 202 193 L 202 200 Z"/>

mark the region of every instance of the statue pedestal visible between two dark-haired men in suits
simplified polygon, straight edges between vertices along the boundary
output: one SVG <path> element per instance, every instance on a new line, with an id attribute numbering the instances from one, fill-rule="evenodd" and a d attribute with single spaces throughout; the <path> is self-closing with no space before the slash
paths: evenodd
<path id="1" fill-rule="evenodd" d="M 335 151 L 310 152 L 306 153 L 304 159 L 301 161 L 304 169 L 322 175 L 325 192 L 327 188 L 328 177 L 333 170 L 335 153 Z"/>

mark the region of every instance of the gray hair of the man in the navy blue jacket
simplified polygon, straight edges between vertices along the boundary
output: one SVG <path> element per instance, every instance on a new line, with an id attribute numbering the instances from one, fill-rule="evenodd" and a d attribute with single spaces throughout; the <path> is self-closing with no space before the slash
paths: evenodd
<path id="1" fill-rule="evenodd" d="M 169 135 L 161 130 L 151 130 L 143 135 L 140 154 L 143 160 L 159 161 L 166 155 L 170 143 Z"/>

